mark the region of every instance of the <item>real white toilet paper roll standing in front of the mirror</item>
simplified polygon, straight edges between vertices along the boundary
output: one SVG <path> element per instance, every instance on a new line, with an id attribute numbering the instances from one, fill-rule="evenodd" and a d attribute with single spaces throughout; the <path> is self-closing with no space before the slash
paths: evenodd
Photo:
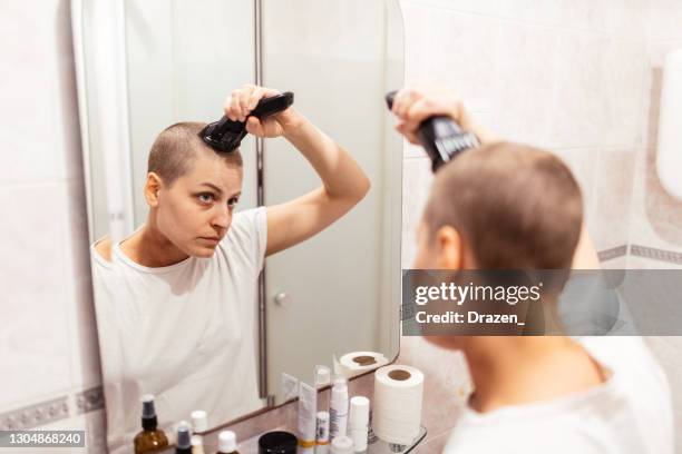
<path id="1" fill-rule="evenodd" d="M 416 367 L 390 365 L 374 374 L 372 428 L 384 442 L 407 445 L 419 434 L 423 374 Z"/>

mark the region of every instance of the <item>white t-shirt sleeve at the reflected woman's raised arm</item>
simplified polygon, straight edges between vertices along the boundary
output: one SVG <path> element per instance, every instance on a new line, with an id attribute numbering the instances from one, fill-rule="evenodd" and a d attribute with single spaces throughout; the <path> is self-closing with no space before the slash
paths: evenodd
<path id="1" fill-rule="evenodd" d="M 226 239 L 256 272 L 263 269 L 267 247 L 267 209 L 257 207 L 236 213 Z"/>

